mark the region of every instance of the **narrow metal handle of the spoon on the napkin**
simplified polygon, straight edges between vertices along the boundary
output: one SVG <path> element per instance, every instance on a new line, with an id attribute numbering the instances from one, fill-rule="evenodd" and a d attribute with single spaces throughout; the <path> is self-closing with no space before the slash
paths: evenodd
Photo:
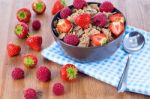
<path id="1" fill-rule="evenodd" d="M 126 90 L 130 58 L 131 58 L 131 54 L 128 54 L 127 63 L 126 63 L 126 66 L 124 68 L 124 71 L 121 75 L 121 78 L 120 78 L 120 81 L 119 81 L 119 84 L 118 84 L 118 87 L 117 87 L 118 92 L 124 92 Z"/>

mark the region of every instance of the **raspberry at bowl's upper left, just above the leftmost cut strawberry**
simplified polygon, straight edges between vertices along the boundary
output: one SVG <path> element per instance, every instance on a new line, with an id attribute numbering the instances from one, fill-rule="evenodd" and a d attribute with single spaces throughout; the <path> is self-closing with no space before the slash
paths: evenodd
<path id="1" fill-rule="evenodd" d="M 60 17 L 62 19 L 67 18 L 68 16 L 70 16 L 72 14 L 72 11 L 69 7 L 65 7 L 60 11 Z"/>

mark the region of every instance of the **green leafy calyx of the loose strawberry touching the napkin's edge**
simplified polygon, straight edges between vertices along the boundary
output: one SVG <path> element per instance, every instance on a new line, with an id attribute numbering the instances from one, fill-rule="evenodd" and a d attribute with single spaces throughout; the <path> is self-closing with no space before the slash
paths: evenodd
<path id="1" fill-rule="evenodd" d="M 68 67 L 68 68 L 66 69 L 66 71 L 67 71 L 67 77 L 68 77 L 70 80 L 76 78 L 77 70 L 76 70 L 75 68 L 73 68 L 73 67 L 70 66 L 70 67 Z"/>

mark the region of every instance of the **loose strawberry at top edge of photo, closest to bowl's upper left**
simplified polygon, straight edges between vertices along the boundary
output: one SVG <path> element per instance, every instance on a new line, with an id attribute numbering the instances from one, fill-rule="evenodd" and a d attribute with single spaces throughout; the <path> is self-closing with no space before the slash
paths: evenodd
<path id="1" fill-rule="evenodd" d="M 52 14 L 56 14 L 66 6 L 65 0 L 57 0 L 52 7 Z"/>

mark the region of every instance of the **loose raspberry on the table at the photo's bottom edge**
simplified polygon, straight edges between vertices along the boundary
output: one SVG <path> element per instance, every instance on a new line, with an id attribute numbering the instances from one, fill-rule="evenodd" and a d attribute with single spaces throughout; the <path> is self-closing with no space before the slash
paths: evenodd
<path id="1" fill-rule="evenodd" d="M 37 92 L 32 88 L 28 88 L 24 91 L 25 99 L 37 99 Z"/>

